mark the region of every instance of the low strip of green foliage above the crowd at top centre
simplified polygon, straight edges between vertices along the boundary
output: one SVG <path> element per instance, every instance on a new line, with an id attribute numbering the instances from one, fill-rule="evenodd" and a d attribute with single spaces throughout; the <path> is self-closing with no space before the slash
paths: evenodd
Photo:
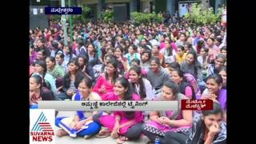
<path id="1" fill-rule="evenodd" d="M 134 19 L 134 23 L 136 25 L 138 24 L 146 24 L 150 22 L 162 22 L 163 18 L 162 16 L 155 14 L 155 13 L 138 13 L 138 12 L 133 12 L 131 13 L 131 16 Z"/>

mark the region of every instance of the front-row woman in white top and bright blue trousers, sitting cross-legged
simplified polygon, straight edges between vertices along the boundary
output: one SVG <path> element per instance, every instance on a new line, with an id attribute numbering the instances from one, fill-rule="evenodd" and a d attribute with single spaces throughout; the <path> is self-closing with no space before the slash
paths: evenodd
<path id="1" fill-rule="evenodd" d="M 78 84 L 78 91 L 73 95 L 73 101 L 98 101 L 102 100 L 97 93 L 92 90 L 92 81 L 90 78 L 83 78 Z M 58 137 L 70 134 L 72 137 L 82 136 L 89 138 L 93 134 L 97 134 L 101 126 L 93 122 L 92 116 L 98 114 L 97 111 L 77 111 L 74 117 L 59 117 L 55 120 L 55 125 L 62 129 L 56 132 Z M 74 121 L 69 121 L 74 119 Z M 71 126 L 71 127 L 70 127 Z"/>

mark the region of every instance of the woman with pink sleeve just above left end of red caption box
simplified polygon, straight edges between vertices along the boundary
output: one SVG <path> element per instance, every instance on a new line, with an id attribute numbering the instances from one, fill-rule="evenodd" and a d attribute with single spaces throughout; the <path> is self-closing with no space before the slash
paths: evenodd
<path id="1" fill-rule="evenodd" d="M 179 69 L 174 69 L 170 73 L 170 80 L 178 84 L 179 92 L 187 98 L 195 99 L 195 94 L 192 86 L 190 86 L 183 78 L 183 72 Z"/>

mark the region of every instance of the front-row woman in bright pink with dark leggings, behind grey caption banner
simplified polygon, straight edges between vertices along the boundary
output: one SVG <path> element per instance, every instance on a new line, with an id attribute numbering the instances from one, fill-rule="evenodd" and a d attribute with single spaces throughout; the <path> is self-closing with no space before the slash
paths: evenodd
<path id="1" fill-rule="evenodd" d="M 130 101 L 140 100 L 137 94 L 130 89 L 130 84 L 126 78 L 118 78 L 114 82 L 114 92 L 106 94 L 108 101 Z M 94 122 L 105 126 L 106 130 L 101 130 L 98 137 L 111 135 L 118 138 L 118 143 L 123 143 L 130 139 L 138 139 L 142 134 L 143 115 L 141 111 L 114 111 L 111 115 L 94 115 Z"/>

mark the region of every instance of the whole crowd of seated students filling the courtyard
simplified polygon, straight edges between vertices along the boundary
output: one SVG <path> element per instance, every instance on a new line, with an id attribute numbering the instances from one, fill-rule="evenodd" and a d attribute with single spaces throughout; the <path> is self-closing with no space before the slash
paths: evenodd
<path id="1" fill-rule="evenodd" d="M 30 30 L 30 108 L 40 100 L 211 99 L 214 109 L 78 111 L 56 118 L 59 137 L 144 134 L 160 143 L 226 143 L 226 26 L 175 23 L 77 23 L 64 45 L 62 26 Z M 71 135 L 72 135 L 71 134 Z"/>

